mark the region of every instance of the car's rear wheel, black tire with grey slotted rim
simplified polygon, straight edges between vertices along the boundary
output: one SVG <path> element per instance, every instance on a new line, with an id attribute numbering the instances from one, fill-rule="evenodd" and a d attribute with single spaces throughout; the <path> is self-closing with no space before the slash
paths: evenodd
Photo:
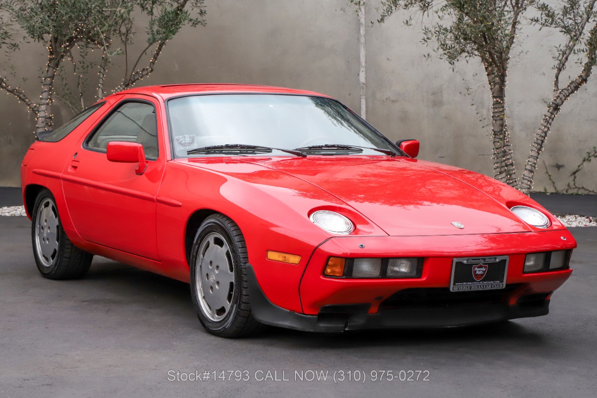
<path id="1" fill-rule="evenodd" d="M 42 190 L 33 206 L 31 240 L 33 258 L 39 273 L 48 279 L 77 279 L 84 276 L 93 254 L 70 242 L 64 232 L 56 200 L 52 193 Z"/>

